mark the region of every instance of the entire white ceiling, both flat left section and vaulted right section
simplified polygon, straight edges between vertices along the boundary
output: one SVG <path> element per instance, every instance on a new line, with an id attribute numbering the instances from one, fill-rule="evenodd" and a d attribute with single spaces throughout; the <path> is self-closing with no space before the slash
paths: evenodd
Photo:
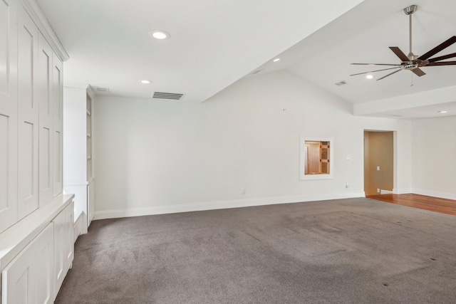
<path id="1" fill-rule="evenodd" d="M 184 93 L 182 102 L 202 102 L 254 70 L 261 70 L 261 75 L 286 69 L 355 108 L 363 103 L 364 108 L 378 109 L 383 100 L 394 104 L 395 98 L 410 94 L 423 99 L 418 107 L 409 102 L 388 111 L 358 111 L 361 115 L 432 117 L 440 115 L 436 105 L 445 110 L 445 104 L 456 102 L 456 95 L 447 93 L 442 100 L 427 103 L 429 95 L 424 94 L 455 86 L 456 66 L 425 67 L 427 75 L 421 78 L 406 70 L 379 81 L 349 76 L 376 69 L 350 63 L 400 63 L 388 46 L 408 53 L 405 6 L 418 5 L 413 14 L 413 53 L 425 53 L 456 35 L 454 0 L 37 3 L 70 56 L 65 81 L 109 88 L 111 95 L 150 98 L 159 91 Z M 154 30 L 167 31 L 171 38 L 154 40 L 147 34 Z M 456 43 L 439 55 L 455 52 Z M 276 56 L 281 61 L 272 63 Z M 142 79 L 152 84 L 142 85 Z M 348 84 L 335 85 L 341 80 Z M 453 91 L 456 86 L 448 92 Z"/>

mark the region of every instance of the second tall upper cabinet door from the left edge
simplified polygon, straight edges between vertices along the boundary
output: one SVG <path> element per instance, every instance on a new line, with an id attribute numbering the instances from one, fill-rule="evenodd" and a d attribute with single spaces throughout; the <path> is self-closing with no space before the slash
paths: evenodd
<path id="1" fill-rule="evenodd" d="M 18 8 L 18 219 L 38 208 L 38 100 L 35 98 L 38 28 Z"/>

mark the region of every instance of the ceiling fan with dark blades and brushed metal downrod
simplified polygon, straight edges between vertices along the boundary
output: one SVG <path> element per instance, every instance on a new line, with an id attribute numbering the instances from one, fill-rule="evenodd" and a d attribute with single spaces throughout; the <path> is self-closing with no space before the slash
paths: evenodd
<path id="1" fill-rule="evenodd" d="M 417 9 L 416 5 L 411 5 L 408 6 L 404 9 L 404 13 L 408 15 L 408 24 L 409 24 L 409 49 L 410 52 L 408 55 L 405 55 L 403 51 L 400 51 L 400 48 L 397 46 L 390 46 L 390 50 L 395 53 L 396 56 L 399 57 L 401 63 L 399 64 L 388 64 L 388 63 L 351 63 L 353 65 L 389 65 L 393 66 L 393 68 L 383 68 L 381 70 L 393 70 L 395 71 L 393 73 L 389 73 L 388 75 L 383 76 L 382 78 L 378 78 L 377 80 L 381 80 L 383 78 L 386 78 L 390 75 L 393 75 L 395 73 L 398 73 L 400 70 L 411 70 L 415 75 L 418 76 L 423 76 L 426 75 L 423 70 L 420 68 L 426 67 L 426 66 L 437 66 L 437 65 L 456 65 L 456 61 L 442 61 L 448 58 L 453 58 L 456 57 L 456 53 L 451 53 L 445 56 L 439 56 L 435 58 L 430 58 L 434 56 L 435 54 L 439 53 L 440 51 L 444 50 L 448 46 L 451 46 L 453 43 L 456 42 L 456 36 L 452 36 L 450 39 L 447 41 L 444 41 L 443 43 L 440 43 L 438 46 L 435 48 L 432 48 L 432 50 L 428 51 L 427 53 L 424 53 L 421 56 L 415 55 L 412 52 L 412 14 L 415 13 Z M 368 73 L 373 73 L 373 72 L 379 72 L 380 70 L 371 70 L 369 72 L 364 72 L 364 73 L 357 73 L 357 74 L 352 74 L 351 76 L 354 75 L 361 75 L 361 74 L 368 74 Z"/>

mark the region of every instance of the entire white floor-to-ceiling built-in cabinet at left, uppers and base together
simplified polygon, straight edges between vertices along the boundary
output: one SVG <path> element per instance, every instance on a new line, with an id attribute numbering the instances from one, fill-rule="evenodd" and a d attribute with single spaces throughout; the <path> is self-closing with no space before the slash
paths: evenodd
<path id="1" fill-rule="evenodd" d="M 1 303 L 53 303 L 73 261 L 63 61 L 35 0 L 0 0 Z"/>

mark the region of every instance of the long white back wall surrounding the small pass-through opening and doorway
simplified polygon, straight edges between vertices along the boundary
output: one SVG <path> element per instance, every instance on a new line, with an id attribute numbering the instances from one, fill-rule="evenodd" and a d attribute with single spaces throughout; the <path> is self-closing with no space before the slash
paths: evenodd
<path id="1" fill-rule="evenodd" d="M 202 104 L 97 97 L 95 219 L 363 196 L 365 129 L 397 131 L 395 188 L 410 189 L 410 121 L 351 110 L 287 72 Z M 334 179 L 299 180 L 300 136 L 335 138 Z"/>

